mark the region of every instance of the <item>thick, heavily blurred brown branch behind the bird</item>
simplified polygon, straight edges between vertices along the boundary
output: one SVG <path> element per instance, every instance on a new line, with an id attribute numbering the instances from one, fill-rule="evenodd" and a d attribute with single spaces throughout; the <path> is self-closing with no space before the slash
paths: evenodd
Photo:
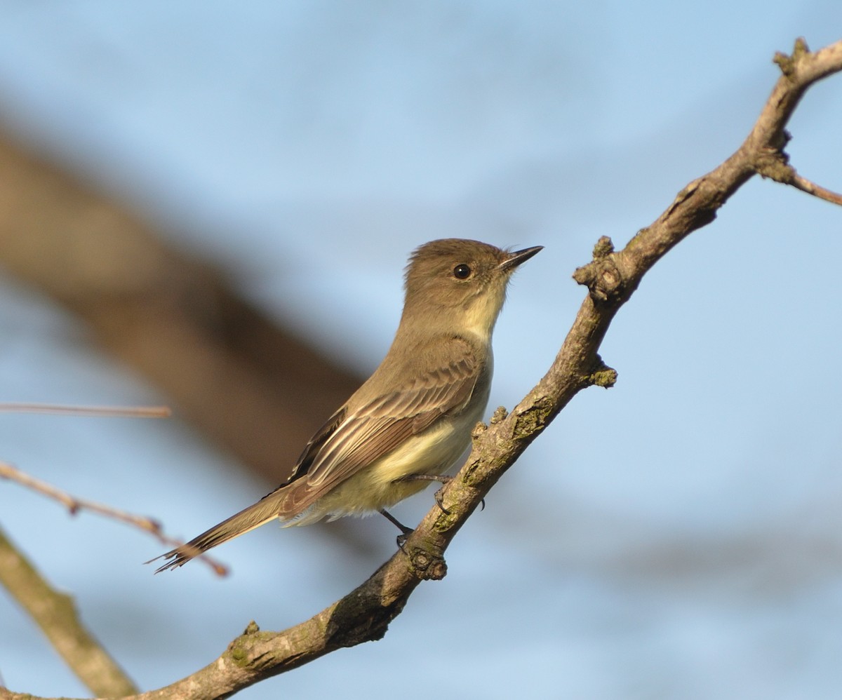
<path id="1" fill-rule="evenodd" d="M 273 487 L 360 382 L 216 268 L 2 131 L 0 265 L 86 321 L 179 416 Z"/>

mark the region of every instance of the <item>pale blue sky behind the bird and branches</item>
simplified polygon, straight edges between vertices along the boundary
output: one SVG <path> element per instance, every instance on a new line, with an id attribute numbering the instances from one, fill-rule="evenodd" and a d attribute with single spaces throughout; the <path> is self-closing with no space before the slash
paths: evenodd
<path id="1" fill-rule="evenodd" d="M 573 3 L 571 3 L 573 5 Z M 540 378 L 599 236 L 622 245 L 742 141 L 775 50 L 842 6 L 705 3 L 3 3 L 0 119 L 125 199 L 244 294 L 365 372 L 408 252 L 545 250 L 514 279 L 492 407 Z M 842 189 L 839 77 L 792 120 L 799 172 Z M 610 391 L 579 395 L 506 475 L 386 639 L 242 697 L 837 697 L 842 671 L 842 211 L 759 179 L 616 318 Z M 161 400 L 48 300 L 0 279 L 3 400 Z M 45 435 L 51 436 L 50 440 Z M 2 458 L 191 535 L 261 496 L 167 423 L 2 416 Z M 400 515 L 416 520 L 420 496 Z M 0 485 L 3 527 L 145 689 L 284 628 L 374 569 L 267 527 L 234 567 L 152 577 L 157 544 Z M 386 524 L 386 523 L 384 523 Z M 389 528 L 366 532 L 390 552 Z M 83 694 L 0 601 L 9 687 Z M 8 625 L 7 625 L 8 621 Z M 452 669 L 452 670 L 451 670 Z M 420 671 L 419 671 L 420 672 Z"/>

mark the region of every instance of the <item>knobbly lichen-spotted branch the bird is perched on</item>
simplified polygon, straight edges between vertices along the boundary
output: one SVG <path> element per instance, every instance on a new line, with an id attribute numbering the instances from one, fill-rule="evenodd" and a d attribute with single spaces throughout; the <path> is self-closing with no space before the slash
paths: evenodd
<path id="1" fill-rule="evenodd" d="M 510 414 L 498 409 L 488 427 L 477 426 L 471 455 L 456 479 L 444 487 L 447 512 L 434 506 L 427 513 L 407 539 L 406 554 L 397 552 L 349 595 L 285 632 L 260 632 L 251 623 L 209 666 L 171 686 L 136 696 L 138 700 L 228 697 L 339 647 L 381 639 L 415 586 L 445 575 L 447 545 L 506 469 L 578 391 L 614 384 L 616 372 L 602 362 L 600 343 L 643 275 L 685 236 L 711 223 L 743 183 L 755 173 L 764 174 L 770 158 L 786 162 L 786 123 L 807 87 L 842 71 L 842 41 L 809 53 L 798 40 L 792 56 L 778 55 L 775 62 L 783 75 L 738 151 L 682 189 L 663 214 L 620 252 L 608 238 L 598 241 L 592 262 L 573 275 L 589 294 L 552 367 Z"/>

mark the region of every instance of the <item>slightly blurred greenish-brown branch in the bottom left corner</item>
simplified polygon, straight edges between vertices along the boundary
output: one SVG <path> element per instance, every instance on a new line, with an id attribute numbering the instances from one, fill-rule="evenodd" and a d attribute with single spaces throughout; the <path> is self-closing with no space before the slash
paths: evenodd
<path id="1" fill-rule="evenodd" d="M 0 531 L 0 582 L 29 612 L 80 681 L 99 696 L 137 692 L 79 619 L 73 599 L 52 588 Z M 0 688 L 0 697 L 4 696 Z"/>

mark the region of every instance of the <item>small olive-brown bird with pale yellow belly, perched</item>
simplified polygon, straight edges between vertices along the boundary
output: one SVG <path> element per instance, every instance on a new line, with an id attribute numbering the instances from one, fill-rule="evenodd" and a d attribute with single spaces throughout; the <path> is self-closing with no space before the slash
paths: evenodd
<path id="1" fill-rule="evenodd" d="M 284 484 L 163 554 L 168 562 L 157 571 L 274 518 L 309 525 L 381 512 L 402 528 L 386 508 L 444 475 L 471 442 L 488 403 L 491 334 L 506 284 L 540 250 L 448 238 L 413 252 L 401 323 L 374 374 L 319 428 Z"/>

